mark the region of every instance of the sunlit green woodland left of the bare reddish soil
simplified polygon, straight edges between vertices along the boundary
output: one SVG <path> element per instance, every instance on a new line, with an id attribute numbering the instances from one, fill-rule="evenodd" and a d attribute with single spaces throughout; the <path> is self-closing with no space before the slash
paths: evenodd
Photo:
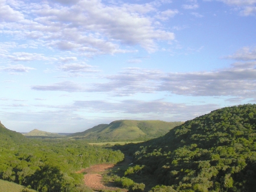
<path id="1" fill-rule="evenodd" d="M 82 185 L 83 174 L 77 171 L 123 158 L 121 151 L 82 140 L 32 140 L 0 126 L 0 179 L 39 192 L 88 191 Z"/>

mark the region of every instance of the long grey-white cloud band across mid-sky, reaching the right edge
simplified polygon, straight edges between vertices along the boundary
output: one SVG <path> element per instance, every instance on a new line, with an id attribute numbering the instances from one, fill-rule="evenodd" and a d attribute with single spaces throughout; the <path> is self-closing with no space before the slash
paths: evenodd
<path id="1" fill-rule="evenodd" d="M 210 72 L 163 73 L 159 70 L 126 68 L 106 76 L 106 83 L 79 85 L 61 82 L 38 85 L 35 90 L 68 92 L 105 92 L 113 96 L 131 96 L 136 93 L 169 93 L 185 96 L 236 96 L 255 98 L 256 62 L 235 63 L 230 68 Z"/>

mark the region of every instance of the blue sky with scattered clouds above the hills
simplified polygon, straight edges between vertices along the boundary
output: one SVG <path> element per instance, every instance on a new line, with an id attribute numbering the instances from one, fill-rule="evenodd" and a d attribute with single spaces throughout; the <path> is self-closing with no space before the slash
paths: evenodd
<path id="1" fill-rule="evenodd" d="M 0 121 L 75 133 L 256 103 L 256 0 L 0 0 Z"/>

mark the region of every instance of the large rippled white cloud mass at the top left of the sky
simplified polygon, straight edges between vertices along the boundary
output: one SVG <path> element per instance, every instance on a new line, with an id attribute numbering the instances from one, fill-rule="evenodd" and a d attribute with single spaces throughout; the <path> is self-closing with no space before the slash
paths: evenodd
<path id="1" fill-rule="evenodd" d="M 17 9 L 16 23 L 3 23 L 3 33 L 41 40 L 44 46 L 83 52 L 87 56 L 135 51 L 123 49 L 122 45 L 140 45 L 154 52 L 157 41 L 174 39 L 173 32 L 154 25 L 154 15 L 166 20 L 178 13 L 170 9 L 159 13 L 155 4 L 165 2 L 119 5 L 107 5 L 101 0 L 55 2 L 58 3 L 23 3 L 21 7 L 12 3 L 15 4 L 12 9 Z M 17 15 L 21 10 L 26 12 L 26 18 Z"/>

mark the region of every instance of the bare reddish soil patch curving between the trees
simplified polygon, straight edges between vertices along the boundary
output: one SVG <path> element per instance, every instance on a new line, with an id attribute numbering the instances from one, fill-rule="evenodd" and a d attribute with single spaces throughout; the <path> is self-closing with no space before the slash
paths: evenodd
<path id="1" fill-rule="evenodd" d="M 99 189 L 108 189 L 108 190 L 116 190 L 120 189 L 118 187 L 113 186 L 106 186 L 102 182 L 102 173 L 105 172 L 107 169 L 113 168 L 114 164 L 105 163 L 105 164 L 98 164 L 93 165 L 87 169 L 82 169 L 79 171 L 80 173 L 86 172 L 87 174 L 84 175 L 84 184 L 89 186 L 92 189 L 99 190 Z M 125 190 L 125 189 L 121 189 Z M 127 191 L 127 190 L 125 190 Z"/>

